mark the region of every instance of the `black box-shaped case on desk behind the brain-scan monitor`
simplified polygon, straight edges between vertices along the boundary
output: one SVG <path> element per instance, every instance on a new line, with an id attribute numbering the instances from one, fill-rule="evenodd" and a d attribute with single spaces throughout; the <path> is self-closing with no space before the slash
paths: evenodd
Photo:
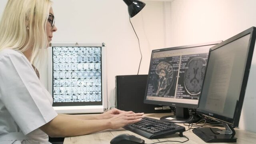
<path id="1" fill-rule="evenodd" d="M 133 112 L 164 113 L 170 107 L 144 104 L 148 75 L 116 76 L 116 108 Z"/>

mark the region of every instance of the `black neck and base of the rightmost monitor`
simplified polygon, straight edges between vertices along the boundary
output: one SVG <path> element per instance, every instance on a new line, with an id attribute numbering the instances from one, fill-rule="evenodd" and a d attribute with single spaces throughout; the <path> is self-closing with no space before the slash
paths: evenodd
<path id="1" fill-rule="evenodd" d="M 194 134 L 200 137 L 205 142 L 236 142 L 234 128 L 226 123 L 223 123 L 226 130 L 218 128 L 195 128 L 192 130 Z"/>

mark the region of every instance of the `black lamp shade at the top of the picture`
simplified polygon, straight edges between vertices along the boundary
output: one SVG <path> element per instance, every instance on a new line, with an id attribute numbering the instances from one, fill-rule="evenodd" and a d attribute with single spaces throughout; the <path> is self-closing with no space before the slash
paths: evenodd
<path id="1" fill-rule="evenodd" d="M 146 5 L 144 2 L 141 2 L 139 0 L 123 0 L 126 5 L 128 6 L 128 13 L 130 18 L 134 17 L 136 14 L 144 8 Z"/>

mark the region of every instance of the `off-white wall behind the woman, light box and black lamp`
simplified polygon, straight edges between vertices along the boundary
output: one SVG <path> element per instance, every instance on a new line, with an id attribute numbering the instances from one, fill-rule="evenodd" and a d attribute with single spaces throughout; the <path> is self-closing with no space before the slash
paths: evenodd
<path id="1" fill-rule="evenodd" d="M 115 76 L 137 74 L 140 63 L 138 40 L 122 0 L 52 0 L 58 30 L 54 42 L 104 42 L 107 48 L 108 99 L 115 104 Z M 166 48 L 162 0 L 142 0 L 144 9 L 131 18 L 140 39 L 142 62 L 139 74 L 148 74 L 152 49 Z M 170 1 L 170 0 L 169 0 Z M 7 0 L 0 0 L 0 16 Z M 47 84 L 47 70 L 40 71 Z"/>

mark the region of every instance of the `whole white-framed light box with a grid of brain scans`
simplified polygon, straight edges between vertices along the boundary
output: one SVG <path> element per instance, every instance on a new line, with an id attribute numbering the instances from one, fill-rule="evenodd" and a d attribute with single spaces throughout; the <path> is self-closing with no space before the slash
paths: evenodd
<path id="1" fill-rule="evenodd" d="M 107 109 L 104 43 L 53 43 L 48 91 L 58 113 L 101 113 Z"/>

